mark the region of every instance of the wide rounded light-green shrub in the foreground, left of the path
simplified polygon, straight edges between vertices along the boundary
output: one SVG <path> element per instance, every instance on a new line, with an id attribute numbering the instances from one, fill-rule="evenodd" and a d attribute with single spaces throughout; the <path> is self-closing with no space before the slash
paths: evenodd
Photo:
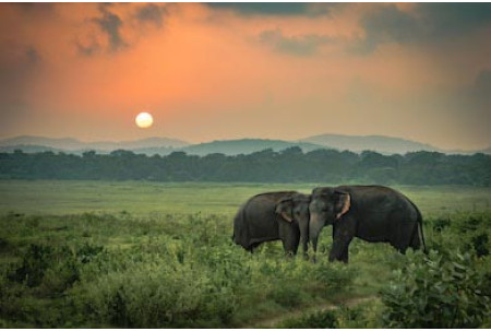
<path id="1" fill-rule="evenodd" d="M 227 320 L 235 309 L 228 288 L 215 286 L 206 271 L 178 261 L 135 263 L 72 295 L 96 321 L 124 328 L 209 327 Z"/>

